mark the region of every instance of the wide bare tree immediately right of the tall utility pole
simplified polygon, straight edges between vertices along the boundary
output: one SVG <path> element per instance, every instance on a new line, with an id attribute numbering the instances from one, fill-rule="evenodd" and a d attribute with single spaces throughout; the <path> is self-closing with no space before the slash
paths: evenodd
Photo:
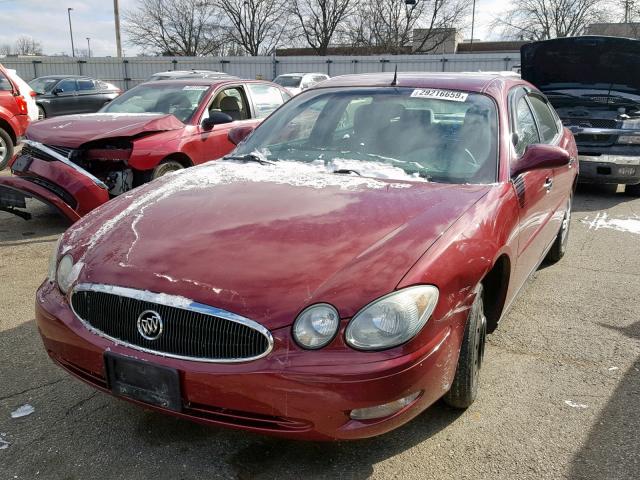
<path id="1" fill-rule="evenodd" d="M 225 32 L 220 11 L 203 0 L 140 0 L 124 12 L 129 43 L 163 55 L 215 55 Z"/>

